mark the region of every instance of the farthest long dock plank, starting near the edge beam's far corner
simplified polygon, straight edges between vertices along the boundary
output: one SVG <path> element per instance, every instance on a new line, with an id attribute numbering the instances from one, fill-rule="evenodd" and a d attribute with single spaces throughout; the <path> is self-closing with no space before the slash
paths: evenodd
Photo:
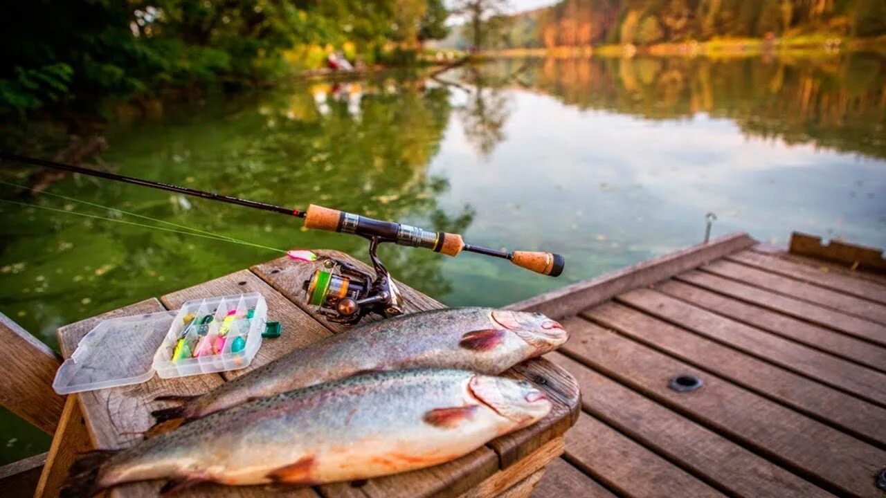
<path id="1" fill-rule="evenodd" d="M 827 269 L 822 271 L 820 268 L 810 265 L 785 261 L 771 254 L 766 255 L 750 250 L 729 254 L 727 259 L 779 275 L 797 278 L 797 280 L 809 284 L 820 285 L 832 291 L 845 292 L 857 298 L 886 304 L 886 285 L 874 284 L 874 282 L 858 276 L 847 276 Z"/>

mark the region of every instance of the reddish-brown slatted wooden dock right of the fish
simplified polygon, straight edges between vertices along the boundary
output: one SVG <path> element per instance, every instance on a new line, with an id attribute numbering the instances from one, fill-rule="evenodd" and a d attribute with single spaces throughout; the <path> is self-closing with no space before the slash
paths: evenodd
<path id="1" fill-rule="evenodd" d="M 886 497 L 886 276 L 844 249 L 736 234 L 513 305 L 582 393 L 532 496 Z"/>

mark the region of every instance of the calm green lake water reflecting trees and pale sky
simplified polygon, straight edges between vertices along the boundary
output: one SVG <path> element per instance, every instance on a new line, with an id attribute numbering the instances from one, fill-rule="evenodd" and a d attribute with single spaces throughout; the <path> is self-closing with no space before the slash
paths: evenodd
<path id="1" fill-rule="evenodd" d="M 119 123 L 105 167 L 284 206 L 314 202 L 563 253 L 560 278 L 506 261 L 388 247 L 392 273 L 449 305 L 503 305 L 701 240 L 791 230 L 886 246 L 886 62 L 508 60 L 440 81 L 309 84 Z M 32 170 L 4 166 L 0 180 Z M 279 214 L 67 176 L 48 191 L 280 249 L 365 259 L 361 239 Z M 0 198 L 113 214 L 0 186 Z M 0 203 L 0 311 L 58 326 L 280 255 Z M 0 463 L 48 438 L 0 413 Z"/>

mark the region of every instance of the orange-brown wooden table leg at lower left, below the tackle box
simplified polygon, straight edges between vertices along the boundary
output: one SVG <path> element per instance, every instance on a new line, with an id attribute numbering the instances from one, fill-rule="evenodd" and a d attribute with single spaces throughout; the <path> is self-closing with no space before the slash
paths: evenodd
<path id="1" fill-rule="evenodd" d="M 94 449 L 76 395 L 68 395 L 34 496 L 58 496 L 77 455 Z"/>

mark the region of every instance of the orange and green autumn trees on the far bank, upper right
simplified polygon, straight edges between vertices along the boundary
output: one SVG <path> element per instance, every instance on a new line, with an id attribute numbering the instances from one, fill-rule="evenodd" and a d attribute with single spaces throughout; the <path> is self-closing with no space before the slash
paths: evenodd
<path id="1" fill-rule="evenodd" d="M 561 0 L 511 16 L 501 48 L 709 41 L 771 35 L 886 35 L 884 0 Z M 470 23 L 467 23 L 470 24 Z M 641 36 L 641 24 L 645 24 Z M 661 31 L 660 36 L 657 32 Z M 651 35 L 651 38 L 649 37 Z M 470 38 L 470 33 L 465 34 Z M 642 40 L 641 40 L 642 38 Z"/>

